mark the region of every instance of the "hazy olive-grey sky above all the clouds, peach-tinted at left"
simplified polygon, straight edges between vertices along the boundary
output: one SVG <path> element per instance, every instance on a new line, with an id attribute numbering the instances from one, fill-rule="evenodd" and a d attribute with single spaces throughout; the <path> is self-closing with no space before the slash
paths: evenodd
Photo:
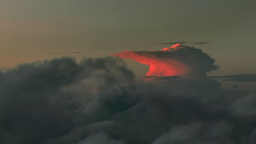
<path id="1" fill-rule="evenodd" d="M 220 69 L 209 75 L 252 74 L 255 5 L 251 0 L 1 0 L 0 65 L 208 41 L 186 45 L 216 59 Z M 148 70 L 147 65 L 128 64 L 137 75 Z"/>

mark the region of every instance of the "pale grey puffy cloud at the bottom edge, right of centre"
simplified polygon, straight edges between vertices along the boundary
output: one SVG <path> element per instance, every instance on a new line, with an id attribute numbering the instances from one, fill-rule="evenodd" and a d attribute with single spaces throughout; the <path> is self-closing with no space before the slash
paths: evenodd
<path id="1" fill-rule="evenodd" d="M 162 135 L 152 144 L 162 143 L 194 143 L 194 144 L 235 144 L 235 140 L 228 139 L 225 135 L 231 133 L 231 128 L 224 122 L 189 123 L 173 127 L 169 133 Z"/>

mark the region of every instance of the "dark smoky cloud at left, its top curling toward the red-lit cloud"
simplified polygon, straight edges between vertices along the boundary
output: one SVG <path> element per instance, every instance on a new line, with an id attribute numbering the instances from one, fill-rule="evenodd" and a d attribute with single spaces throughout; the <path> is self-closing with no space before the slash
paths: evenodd
<path id="1" fill-rule="evenodd" d="M 75 121 L 82 104 L 61 89 L 89 77 L 111 87 L 131 81 L 134 75 L 114 57 L 83 59 L 79 63 L 64 57 L 2 71 L 0 142 L 43 143 L 66 135 L 78 124 Z"/>

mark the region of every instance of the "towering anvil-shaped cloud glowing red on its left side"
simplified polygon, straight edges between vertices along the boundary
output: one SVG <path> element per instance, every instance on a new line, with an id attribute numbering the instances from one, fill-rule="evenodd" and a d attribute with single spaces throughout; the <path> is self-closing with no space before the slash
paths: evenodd
<path id="1" fill-rule="evenodd" d="M 112 56 L 150 65 L 147 76 L 206 76 L 206 71 L 217 69 L 214 59 L 206 53 L 181 44 L 161 51 L 124 51 Z"/>

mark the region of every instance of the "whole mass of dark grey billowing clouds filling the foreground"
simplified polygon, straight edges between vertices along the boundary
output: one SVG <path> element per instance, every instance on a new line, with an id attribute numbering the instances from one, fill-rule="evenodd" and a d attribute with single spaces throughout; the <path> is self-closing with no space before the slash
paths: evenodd
<path id="1" fill-rule="evenodd" d="M 256 95 L 222 91 L 208 77 L 144 82 L 116 57 L 63 57 L 0 80 L 0 143 L 256 142 Z"/>

